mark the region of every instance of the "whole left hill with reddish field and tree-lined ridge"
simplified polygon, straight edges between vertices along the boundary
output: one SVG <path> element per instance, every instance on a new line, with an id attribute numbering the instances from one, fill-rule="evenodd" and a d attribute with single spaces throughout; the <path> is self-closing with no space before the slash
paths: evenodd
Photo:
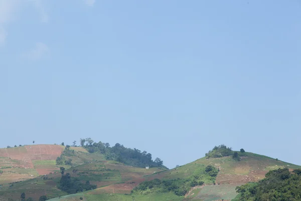
<path id="1" fill-rule="evenodd" d="M 0 200 L 17 200 L 23 192 L 35 200 L 42 195 L 57 197 L 75 193 L 84 186 L 103 187 L 139 180 L 166 168 L 162 160 L 154 162 L 146 151 L 125 148 L 118 143 L 113 147 L 108 143 L 91 143 L 89 138 L 87 141 L 82 147 L 30 145 L 0 149 Z M 106 160 L 111 158 L 130 165 Z M 151 168 L 145 169 L 145 165 Z M 60 187 L 62 168 L 64 176 L 70 175 L 69 184 L 80 186 Z M 132 182 L 133 186 L 137 184 Z"/>

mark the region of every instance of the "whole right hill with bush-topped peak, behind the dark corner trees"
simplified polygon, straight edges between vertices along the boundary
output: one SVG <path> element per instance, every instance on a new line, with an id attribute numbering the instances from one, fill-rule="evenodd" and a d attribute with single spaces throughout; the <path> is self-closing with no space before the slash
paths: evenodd
<path id="1" fill-rule="evenodd" d="M 192 163 L 141 177 L 135 181 L 139 182 L 136 187 L 132 182 L 111 184 L 52 200 L 77 200 L 80 197 L 83 200 L 230 200 L 237 195 L 236 186 L 257 182 L 270 170 L 288 168 L 292 171 L 301 168 L 244 150 L 232 151 L 228 147 L 214 148 L 210 153 L 213 152 Z M 226 153 L 226 156 L 220 152 Z M 218 170 L 216 176 L 206 172 L 208 166 Z M 202 183 L 200 181 L 204 184 L 199 185 Z M 186 192 L 185 195 L 177 194 L 179 190 Z"/>

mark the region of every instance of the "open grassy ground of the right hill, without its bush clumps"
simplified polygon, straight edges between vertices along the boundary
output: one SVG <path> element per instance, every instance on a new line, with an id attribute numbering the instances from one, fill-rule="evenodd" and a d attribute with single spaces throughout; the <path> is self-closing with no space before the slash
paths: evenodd
<path id="1" fill-rule="evenodd" d="M 186 178 L 190 175 L 202 172 L 207 165 L 213 165 L 220 168 L 220 172 L 216 179 L 216 185 L 212 185 L 213 181 L 207 175 L 202 175 L 202 179 L 211 185 L 203 186 L 195 189 L 186 199 L 212 201 L 218 199 L 232 199 L 236 196 L 235 187 L 249 181 L 257 181 L 264 177 L 265 173 L 271 169 L 288 167 L 291 169 L 301 168 L 298 165 L 285 163 L 283 161 L 276 161 L 273 158 L 253 154 L 253 153 L 239 153 L 241 161 L 235 161 L 231 157 L 223 158 L 201 158 L 192 163 L 183 165 L 178 168 L 157 172 L 152 175 L 144 176 L 143 179 L 152 180 L 154 178 L 160 179 L 174 179 Z M 218 183 L 221 183 L 220 185 Z M 128 183 L 127 185 L 130 185 Z M 124 186 L 123 186 L 124 187 Z M 102 190 L 106 188 L 106 190 Z M 107 191 L 111 189 L 111 191 Z M 113 193 L 113 189 L 115 193 Z M 119 192 L 119 193 L 118 193 Z M 79 200 L 83 197 L 84 200 L 185 200 L 183 196 L 176 196 L 173 193 L 151 193 L 145 195 L 125 195 L 122 191 L 118 191 L 118 186 L 109 185 L 95 190 L 83 192 L 80 194 L 67 195 L 61 199 L 52 200 Z"/>

